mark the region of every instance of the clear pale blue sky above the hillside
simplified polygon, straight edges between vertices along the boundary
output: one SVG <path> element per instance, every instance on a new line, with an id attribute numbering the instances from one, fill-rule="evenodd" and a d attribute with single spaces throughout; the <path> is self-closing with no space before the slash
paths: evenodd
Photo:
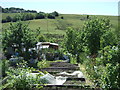
<path id="1" fill-rule="evenodd" d="M 118 15 L 120 0 L 0 0 L 3 8 L 17 7 L 61 14 Z"/>

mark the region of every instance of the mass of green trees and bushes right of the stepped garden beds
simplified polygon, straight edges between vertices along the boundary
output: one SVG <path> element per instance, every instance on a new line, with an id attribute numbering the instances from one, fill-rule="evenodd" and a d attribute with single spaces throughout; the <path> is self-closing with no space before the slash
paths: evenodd
<path id="1" fill-rule="evenodd" d="M 93 18 L 83 29 L 68 29 L 66 33 L 66 50 L 76 57 L 79 51 L 79 55 L 85 53 L 77 59 L 83 61 L 95 86 L 107 90 L 120 89 L 120 46 L 114 31 L 109 19 Z"/>

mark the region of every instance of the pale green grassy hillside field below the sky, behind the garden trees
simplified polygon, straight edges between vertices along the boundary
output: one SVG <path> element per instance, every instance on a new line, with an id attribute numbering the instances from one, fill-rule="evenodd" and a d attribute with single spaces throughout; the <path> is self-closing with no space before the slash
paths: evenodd
<path id="1" fill-rule="evenodd" d="M 18 13 L 3 13 L 3 18 L 7 16 L 15 16 Z M 64 19 L 60 17 L 63 16 Z M 84 24 L 87 15 L 77 15 L 77 14 L 61 14 L 56 19 L 34 19 L 29 21 L 22 21 L 23 23 L 30 23 L 29 27 L 33 30 L 37 29 L 38 27 L 41 28 L 41 33 L 51 33 L 51 34 L 65 34 L 66 27 L 74 27 L 74 28 L 81 28 Z M 97 16 L 98 18 L 109 18 L 110 22 L 113 27 L 116 27 L 118 24 L 118 17 L 117 16 L 102 16 L 102 15 L 90 15 L 90 18 Z M 7 28 L 9 23 L 3 23 L 2 27 Z M 60 30 L 57 26 L 63 28 Z M 64 28 L 65 27 L 65 28 Z"/>

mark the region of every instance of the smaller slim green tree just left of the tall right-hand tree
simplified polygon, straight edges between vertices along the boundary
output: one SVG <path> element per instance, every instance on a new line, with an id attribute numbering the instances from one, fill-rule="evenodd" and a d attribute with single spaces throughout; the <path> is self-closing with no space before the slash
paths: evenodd
<path id="1" fill-rule="evenodd" d="M 83 51 L 82 33 L 80 30 L 68 28 L 66 32 L 65 46 L 69 53 L 77 56 L 77 62 L 80 62 L 79 55 Z"/>

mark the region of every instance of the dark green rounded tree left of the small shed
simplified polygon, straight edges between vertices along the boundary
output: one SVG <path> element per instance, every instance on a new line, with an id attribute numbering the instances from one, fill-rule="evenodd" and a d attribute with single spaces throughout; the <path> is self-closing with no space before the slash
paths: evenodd
<path id="1" fill-rule="evenodd" d="M 36 43 L 33 31 L 28 28 L 28 25 L 21 22 L 10 23 L 10 27 L 3 31 L 2 41 L 5 50 L 8 47 L 16 45 L 20 54 L 22 54 L 23 47 L 26 49 L 27 53 L 28 49 L 34 47 Z"/>

